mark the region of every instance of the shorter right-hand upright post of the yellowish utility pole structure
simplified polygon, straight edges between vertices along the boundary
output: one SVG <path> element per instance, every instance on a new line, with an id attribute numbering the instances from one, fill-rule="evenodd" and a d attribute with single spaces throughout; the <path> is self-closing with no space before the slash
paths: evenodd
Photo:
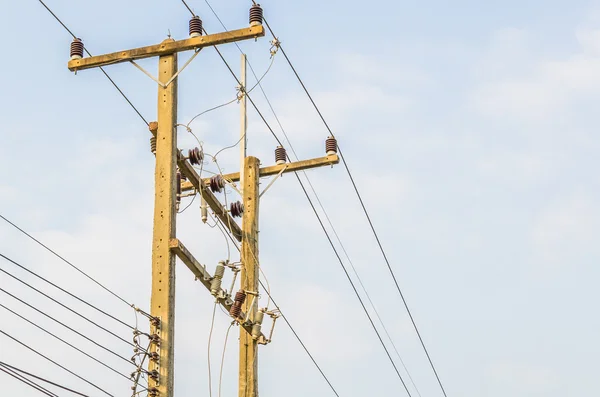
<path id="1" fill-rule="evenodd" d="M 258 210 L 260 162 L 256 157 L 244 160 L 244 217 L 242 218 L 242 290 L 248 296 L 243 310 L 248 320 L 255 321 L 258 308 Z M 257 299 L 254 299 L 254 298 Z M 239 397 L 258 396 L 258 341 L 240 330 Z"/>

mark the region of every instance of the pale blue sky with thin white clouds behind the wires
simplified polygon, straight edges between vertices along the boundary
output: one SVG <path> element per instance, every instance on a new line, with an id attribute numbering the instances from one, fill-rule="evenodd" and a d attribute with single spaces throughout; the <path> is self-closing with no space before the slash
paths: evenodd
<path id="1" fill-rule="evenodd" d="M 187 35 L 190 15 L 175 0 L 46 3 L 93 54 L 158 43 L 169 33 Z M 204 1 L 189 3 L 208 31 L 223 30 Z M 68 71 L 71 37 L 38 1 L 1 4 L 0 214 L 147 310 L 154 197 L 148 129 L 100 71 Z M 211 4 L 227 28 L 247 25 L 249 1 Z M 343 148 L 448 396 L 595 394 L 600 3 L 262 5 Z M 240 43 L 259 76 L 271 63 L 270 39 Z M 221 49 L 237 72 L 238 49 Z M 298 156 L 322 156 L 328 132 L 281 55 L 275 55 L 264 90 Z M 180 64 L 189 56 L 181 54 Z M 156 60 L 140 64 L 156 72 Z M 156 119 L 156 83 L 131 65 L 106 71 L 148 121 Z M 231 101 L 236 84 L 215 51 L 203 50 L 179 78 L 179 122 Z M 283 137 L 260 91 L 252 97 Z M 248 152 L 270 165 L 277 144 L 256 112 L 248 117 Z M 214 154 L 237 141 L 239 106 L 200 116 L 191 128 Z M 178 140 L 181 149 L 198 145 L 185 129 Z M 222 152 L 218 161 L 224 172 L 235 172 L 238 149 Z M 215 170 L 212 162 L 206 167 Z M 343 166 L 307 175 L 414 380 L 418 391 L 384 337 L 412 395 L 442 396 Z M 230 190 L 228 198 L 235 196 Z M 233 247 L 228 253 L 218 229 L 202 224 L 198 201 L 177 222 L 178 237 L 211 272 L 228 256 L 239 259 Z M 0 253 L 128 324 L 147 327 L 123 302 L 4 222 Z M 340 396 L 407 395 L 291 175 L 261 199 L 260 262 L 277 304 Z M 0 269 L 131 340 L 130 329 L 11 263 L 0 260 Z M 132 355 L 129 345 L 4 273 L 0 286 L 119 355 Z M 132 370 L 4 293 L 0 304 L 118 372 Z M 260 304 L 267 304 L 264 294 Z M 230 321 L 216 310 L 209 377 L 213 308 L 207 291 L 178 263 L 177 396 L 209 395 L 209 379 L 218 395 Z M 130 395 L 126 379 L 0 312 L 1 331 L 115 396 Z M 233 328 L 223 396 L 237 393 L 238 335 Z M 282 321 L 259 355 L 262 396 L 334 395 Z M 3 335 L 0 361 L 103 395 Z M 40 395 L 0 378 L 3 395 Z"/>

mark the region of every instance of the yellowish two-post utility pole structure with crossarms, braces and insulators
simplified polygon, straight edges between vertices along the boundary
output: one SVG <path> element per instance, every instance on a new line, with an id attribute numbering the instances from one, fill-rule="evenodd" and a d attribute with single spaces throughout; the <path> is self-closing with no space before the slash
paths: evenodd
<path id="1" fill-rule="evenodd" d="M 258 346 L 271 342 L 275 321 L 279 317 L 277 310 L 268 311 L 258 308 L 259 298 L 259 202 L 260 197 L 273 186 L 284 173 L 297 172 L 322 166 L 333 166 L 340 159 L 337 155 L 337 143 L 334 138 L 326 141 L 325 157 L 288 162 L 286 151 L 278 147 L 275 151 L 276 164 L 260 167 L 256 157 L 247 157 L 247 116 L 246 116 L 246 56 L 242 55 L 241 76 L 241 150 L 240 172 L 202 178 L 193 164 L 203 160 L 201 149 L 189 150 L 185 156 L 177 146 L 177 87 L 178 79 L 187 65 L 205 47 L 217 46 L 241 40 L 257 39 L 265 35 L 262 26 L 262 9 L 254 4 L 250 9 L 250 27 L 202 35 L 202 21 L 195 16 L 190 21 L 190 38 L 185 40 L 167 39 L 160 44 L 119 51 L 111 54 L 84 58 L 83 43 L 75 39 L 71 44 L 69 70 L 73 72 L 105 67 L 117 63 L 130 62 L 158 84 L 158 122 L 149 125 L 152 133 L 151 148 L 156 155 L 154 230 L 152 239 L 152 297 L 150 311 L 150 346 L 142 352 L 148 358 L 148 370 L 137 369 L 137 378 L 143 373 L 148 377 L 148 396 L 174 396 L 174 333 L 175 333 L 175 263 L 179 258 L 193 273 L 217 302 L 226 309 L 240 326 L 240 363 L 239 397 L 258 396 Z M 275 39 L 274 42 L 277 42 Z M 273 43 L 273 42 L 272 42 Z M 276 44 L 274 44 L 276 45 Z M 194 51 L 192 58 L 178 69 L 177 54 Z M 273 55 L 273 54 L 272 54 Z M 152 76 L 135 61 L 158 57 L 158 77 Z M 269 184 L 259 191 L 260 178 L 272 177 Z M 182 181 L 185 177 L 187 181 Z M 240 191 L 243 201 L 229 208 L 219 201 L 215 193 L 228 183 L 241 182 Z M 217 265 L 214 275 L 206 266 L 192 255 L 177 238 L 177 206 L 182 192 L 193 191 L 199 194 L 222 226 L 231 233 L 231 237 L 240 241 L 241 281 L 240 291 L 233 298 L 232 290 L 221 288 L 221 281 L 228 266 L 234 273 L 232 286 L 235 285 L 237 272 L 235 265 L 225 261 Z M 234 217 L 242 217 L 242 226 Z M 263 318 L 272 319 L 268 335 L 262 332 Z M 136 330 L 137 331 L 137 330 Z M 136 334 L 136 337 L 140 334 Z M 138 350 L 135 354 L 139 354 Z M 135 356 L 134 356 L 135 357 Z M 143 360 L 141 360 L 143 362 Z M 141 364 L 140 364 L 141 365 Z M 136 374 L 136 373 L 134 373 Z M 132 374 L 132 379 L 135 378 Z M 135 385 L 137 386 L 137 380 Z M 138 397 L 134 388 L 133 397 Z"/>

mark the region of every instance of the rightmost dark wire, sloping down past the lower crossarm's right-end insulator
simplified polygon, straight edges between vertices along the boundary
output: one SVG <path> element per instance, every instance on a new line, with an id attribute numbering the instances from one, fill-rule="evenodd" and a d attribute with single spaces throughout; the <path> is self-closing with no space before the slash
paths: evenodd
<path id="1" fill-rule="evenodd" d="M 256 2 L 254 0 L 252 0 L 252 2 L 254 4 L 256 4 Z M 264 18 L 265 24 L 267 25 L 267 28 L 269 29 L 269 31 L 271 32 L 271 35 L 273 37 L 275 36 L 275 33 L 273 32 L 273 29 L 271 29 L 271 26 L 269 25 L 268 21 L 266 20 L 266 18 Z M 302 79 L 300 78 L 300 75 L 298 74 L 298 72 L 296 71 L 296 68 L 294 67 L 294 65 L 292 64 L 292 62 L 290 61 L 289 57 L 287 56 L 285 50 L 283 49 L 283 47 L 280 45 L 279 49 L 281 50 L 281 53 L 283 54 L 284 58 L 287 60 L 288 64 L 290 65 L 290 68 L 292 69 L 292 71 L 294 72 L 294 75 L 296 76 L 296 78 L 298 79 L 298 82 L 300 83 L 300 85 L 302 86 L 304 92 L 306 93 L 306 95 L 308 96 L 310 102 L 312 103 L 313 107 L 315 108 L 315 110 L 317 111 L 319 117 L 321 118 L 321 121 L 323 122 L 323 124 L 325 125 L 325 127 L 327 128 L 327 131 L 329 131 L 329 133 L 331 134 L 331 136 L 335 136 L 333 134 L 333 131 L 331 130 L 331 128 L 329 127 L 329 124 L 327 123 L 327 121 L 325 120 L 325 117 L 323 116 L 323 114 L 321 113 L 321 110 L 319 109 L 319 107 L 317 106 L 316 102 L 314 101 L 312 95 L 310 94 L 310 92 L 308 91 L 308 89 L 306 88 L 306 85 L 304 84 L 304 82 L 302 81 Z M 362 195 L 360 194 L 359 190 L 358 190 L 358 186 L 356 185 L 356 182 L 354 180 L 354 177 L 352 176 L 352 172 L 350 172 L 350 168 L 348 166 L 348 163 L 346 162 L 346 159 L 344 158 L 342 149 L 339 147 L 338 144 L 338 151 L 340 154 L 340 158 L 342 159 L 342 162 L 344 164 L 344 168 L 346 169 L 346 172 L 348 173 L 348 176 L 350 178 L 350 182 L 352 183 L 352 187 L 354 188 L 354 191 L 358 197 L 358 200 L 360 202 L 360 205 L 363 209 L 363 212 L 367 218 L 367 221 L 369 223 L 369 226 L 371 228 L 371 231 L 373 232 L 373 235 L 375 236 L 375 240 L 377 241 L 377 245 L 379 246 L 379 250 L 381 251 L 381 254 L 385 260 L 385 263 L 387 265 L 387 268 L 392 276 L 392 279 L 394 280 L 394 284 L 396 286 L 396 290 L 398 291 L 398 294 L 400 295 L 400 298 L 402 299 L 402 303 L 404 304 L 404 307 L 408 313 L 408 316 L 410 318 L 410 321 L 413 325 L 413 328 L 415 329 L 415 332 L 419 338 L 419 341 L 421 343 L 421 347 L 423 348 L 423 351 L 425 352 L 425 355 L 427 356 L 427 360 L 429 361 L 429 364 L 431 366 L 431 369 L 433 370 L 433 373 L 437 379 L 437 382 L 442 390 L 442 393 L 444 394 L 445 397 L 447 397 L 446 394 L 446 390 L 444 388 L 444 385 L 442 384 L 442 381 L 438 375 L 437 369 L 435 367 L 435 365 L 433 364 L 433 360 L 431 359 L 431 355 L 429 354 L 429 351 L 427 350 L 427 347 L 425 346 L 425 342 L 423 341 L 423 338 L 421 337 L 421 332 L 419 331 L 419 328 L 417 327 L 417 324 L 415 322 L 415 319 L 412 315 L 412 312 L 408 306 L 408 303 L 406 301 L 406 298 L 404 297 L 404 294 L 402 292 L 402 289 L 400 288 L 400 285 L 398 283 L 398 280 L 396 278 L 396 274 L 394 273 L 394 270 L 392 269 L 392 266 L 390 264 L 390 261 L 388 260 L 388 257 L 385 253 L 385 250 L 383 249 L 383 245 L 381 243 L 381 240 L 379 239 L 379 235 L 377 234 L 377 231 L 375 230 L 375 226 L 373 225 L 373 222 L 371 220 L 371 216 L 369 215 L 369 212 L 367 211 L 367 207 L 365 206 L 365 203 L 363 201 Z"/>

